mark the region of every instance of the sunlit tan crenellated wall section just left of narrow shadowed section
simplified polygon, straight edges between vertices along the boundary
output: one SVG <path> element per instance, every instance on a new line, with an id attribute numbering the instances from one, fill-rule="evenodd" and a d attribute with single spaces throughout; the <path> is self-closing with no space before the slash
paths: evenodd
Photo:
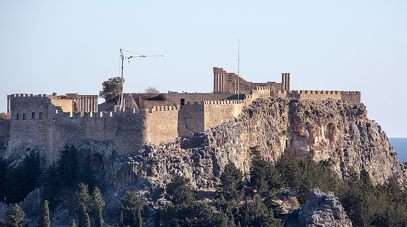
<path id="1" fill-rule="evenodd" d="M 155 106 L 146 114 L 147 143 L 161 144 L 178 137 L 178 106 Z"/>

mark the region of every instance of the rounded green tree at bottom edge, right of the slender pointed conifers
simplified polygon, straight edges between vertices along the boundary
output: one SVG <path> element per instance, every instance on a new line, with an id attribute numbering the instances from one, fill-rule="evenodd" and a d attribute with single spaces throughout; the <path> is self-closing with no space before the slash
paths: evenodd
<path id="1" fill-rule="evenodd" d="M 134 191 L 126 191 L 124 197 L 120 199 L 119 212 L 123 213 L 123 223 L 131 226 L 138 226 L 142 223 L 141 209 L 146 204 Z"/>

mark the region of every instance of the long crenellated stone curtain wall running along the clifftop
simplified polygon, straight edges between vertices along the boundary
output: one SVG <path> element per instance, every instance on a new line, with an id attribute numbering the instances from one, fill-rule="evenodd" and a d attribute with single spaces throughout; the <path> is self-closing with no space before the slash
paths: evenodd
<path id="1" fill-rule="evenodd" d="M 174 100 L 187 98 L 181 95 L 174 96 Z M 241 100 L 187 101 L 182 106 L 139 109 L 135 105 L 136 108 L 117 108 L 116 111 L 75 112 L 72 111 L 72 99 L 57 99 L 54 95 L 14 94 L 9 97 L 11 120 L 0 122 L 0 136 L 8 136 L 9 132 L 7 153 L 26 145 L 46 146 L 47 165 L 59 158 L 65 144 L 74 144 L 82 139 L 109 140 L 113 142 L 115 152 L 127 154 L 146 143 L 172 142 L 178 136 L 192 136 L 215 127 L 237 117 L 253 100 L 274 95 L 360 102 L 360 92 L 276 92 L 274 87 L 255 86 L 248 94 L 241 95 Z M 202 94 L 196 97 L 205 98 Z M 208 96 L 211 97 L 213 94 Z"/>

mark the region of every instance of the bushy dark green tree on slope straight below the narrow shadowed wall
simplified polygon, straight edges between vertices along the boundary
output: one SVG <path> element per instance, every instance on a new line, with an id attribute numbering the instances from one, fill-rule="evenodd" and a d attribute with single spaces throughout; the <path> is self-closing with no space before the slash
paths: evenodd
<path id="1" fill-rule="evenodd" d="M 192 203 L 195 201 L 195 193 L 191 191 L 190 179 L 173 175 L 171 183 L 167 185 L 167 193 L 171 195 L 173 204 Z"/>

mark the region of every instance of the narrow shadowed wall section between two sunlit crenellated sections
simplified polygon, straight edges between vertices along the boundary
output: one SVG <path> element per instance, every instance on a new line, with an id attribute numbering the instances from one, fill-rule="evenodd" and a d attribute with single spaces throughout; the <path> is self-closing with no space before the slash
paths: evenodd
<path id="1" fill-rule="evenodd" d="M 178 133 L 180 136 L 192 136 L 193 133 L 205 131 L 204 106 L 187 102 L 178 112 Z"/>

